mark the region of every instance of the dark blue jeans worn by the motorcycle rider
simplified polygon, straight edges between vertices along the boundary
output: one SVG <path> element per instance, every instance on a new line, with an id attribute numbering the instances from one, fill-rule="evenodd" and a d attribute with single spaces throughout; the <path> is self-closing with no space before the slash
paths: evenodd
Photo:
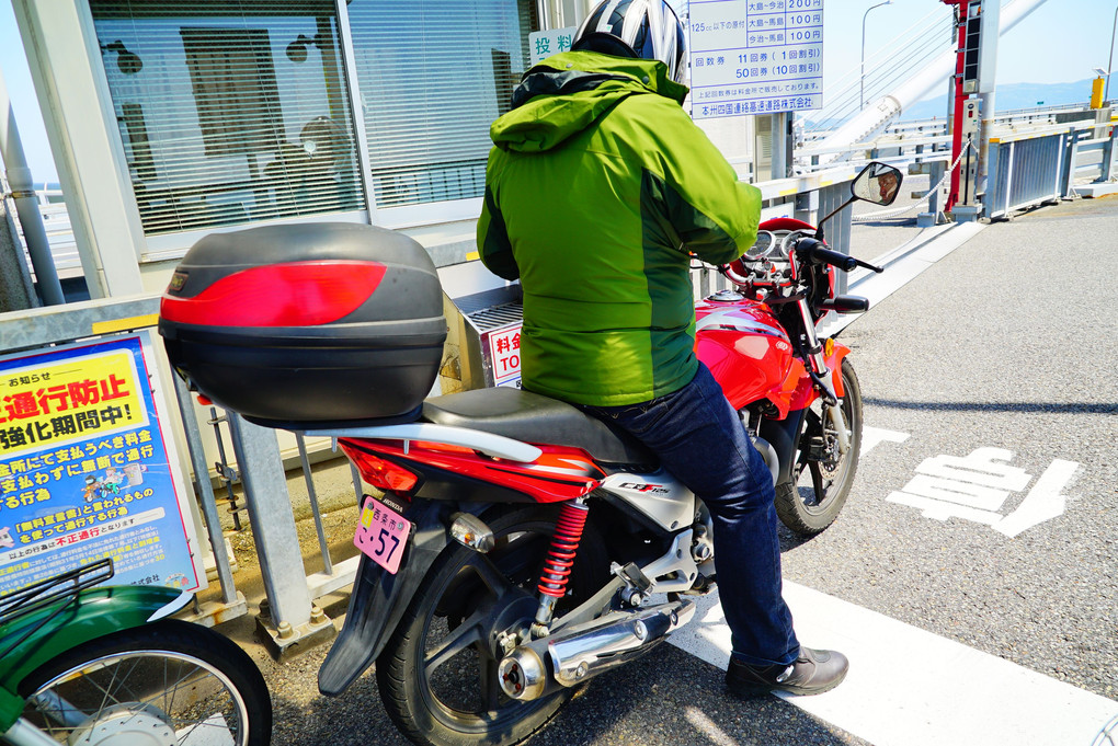
<path id="1" fill-rule="evenodd" d="M 699 363 L 691 383 L 651 401 L 582 409 L 638 438 L 707 505 L 735 659 L 750 666 L 795 661 L 799 642 L 780 595 L 773 478 L 707 366 Z"/>

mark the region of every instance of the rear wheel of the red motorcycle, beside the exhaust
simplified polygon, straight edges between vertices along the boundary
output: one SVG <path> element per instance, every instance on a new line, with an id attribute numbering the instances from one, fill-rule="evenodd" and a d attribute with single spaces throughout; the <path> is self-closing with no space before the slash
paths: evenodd
<path id="1" fill-rule="evenodd" d="M 377 659 L 377 682 L 392 721 L 423 746 L 510 746 L 542 728 L 574 695 L 561 689 L 540 699 L 509 698 L 496 667 L 495 638 L 531 623 L 536 584 L 550 547 L 557 510 L 502 508 L 483 518 L 496 546 L 480 554 L 452 543 Z M 556 615 L 574 609 L 606 581 L 607 566 L 588 524 Z"/>

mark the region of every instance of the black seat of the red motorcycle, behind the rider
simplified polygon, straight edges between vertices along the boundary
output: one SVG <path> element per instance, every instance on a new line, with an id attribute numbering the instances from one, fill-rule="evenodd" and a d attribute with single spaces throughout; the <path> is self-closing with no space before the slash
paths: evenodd
<path id="1" fill-rule="evenodd" d="M 566 402 L 498 386 L 434 396 L 423 419 L 481 430 L 528 443 L 581 448 L 596 461 L 654 467 L 655 455 L 636 438 Z"/>

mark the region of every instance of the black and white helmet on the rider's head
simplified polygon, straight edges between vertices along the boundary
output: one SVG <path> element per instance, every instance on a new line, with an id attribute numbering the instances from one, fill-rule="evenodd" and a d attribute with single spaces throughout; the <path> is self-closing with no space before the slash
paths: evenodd
<path id="1" fill-rule="evenodd" d="M 665 0 L 601 0 L 582 21 L 572 49 L 616 57 L 659 59 L 683 83 L 686 68 L 683 25 Z"/>

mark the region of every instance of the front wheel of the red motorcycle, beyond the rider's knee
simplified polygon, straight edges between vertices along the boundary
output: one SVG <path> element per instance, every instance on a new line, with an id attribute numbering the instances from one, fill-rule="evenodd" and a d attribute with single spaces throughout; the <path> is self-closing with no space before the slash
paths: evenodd
<path id="1" fill-rule="evenodd" d="M 839 455 L 830 419 L 816 402 L 804 417 L 792 478 L 776 485 L 776 513 L 792 532 L 815 536 L 839 517 L 850 495 L 862 451 L 862 389 L 849 360 L 842 362 L 843 419 L 850 450 Z"/>

